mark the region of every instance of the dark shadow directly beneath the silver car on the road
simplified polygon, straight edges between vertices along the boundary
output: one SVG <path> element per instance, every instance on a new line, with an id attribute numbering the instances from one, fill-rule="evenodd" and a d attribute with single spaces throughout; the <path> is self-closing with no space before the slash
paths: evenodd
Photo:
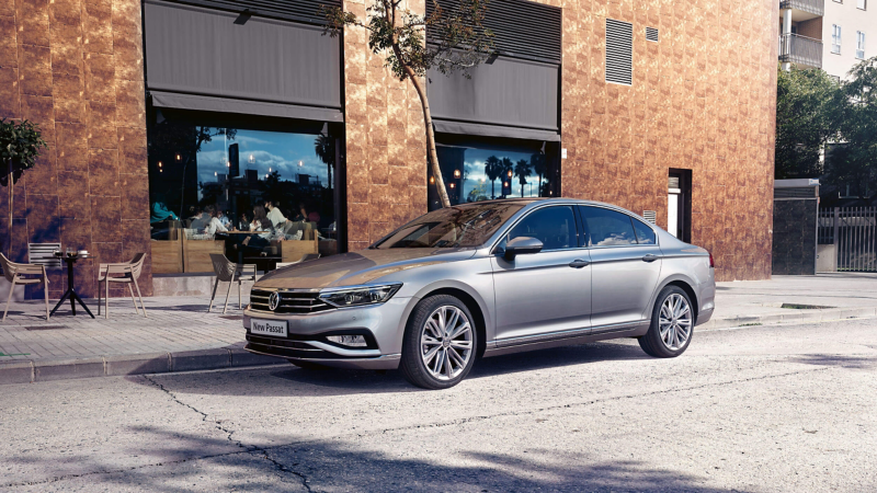
<path id="1" fill-rule="evenodd" d="M 593 343 L 517 353 L 476 362 L 468 379 L 490 378 L 569 365 L 608 360 L 650 359 L 639 345 L 624 342 Z M 140 377 L 132 381 L 149 383 Z M 293 365 L 240 369 L 237 371 L 157 374 L 174 392 L 220 395 L 322 397 L 363 393 L 423 391 L 408 383 L 398 370 L 301 369 Z"/>

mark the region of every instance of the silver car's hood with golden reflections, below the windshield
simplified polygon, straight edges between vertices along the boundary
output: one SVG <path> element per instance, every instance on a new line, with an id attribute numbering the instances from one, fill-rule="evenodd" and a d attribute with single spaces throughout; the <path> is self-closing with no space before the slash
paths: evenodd
<path id="1" fill-rule="evenodd" d="M 475 250 L 390 249 L 361 250 L 278 268 L 254 287 L 321 289 L 356 286 L 401 271 L 469 259 Z"/>

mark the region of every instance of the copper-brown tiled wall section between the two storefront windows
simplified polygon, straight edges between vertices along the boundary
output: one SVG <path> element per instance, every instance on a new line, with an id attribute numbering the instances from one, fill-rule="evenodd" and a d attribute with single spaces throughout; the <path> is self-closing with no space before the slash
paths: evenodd
<path id="1" fill-rule="evenodd" d="M 344 2 L 360 19 L 371 0 Z M 423 1 L 411 2 L 423 13 Z M 411 82 L 396 80 L 368 49 L 365 30 L 344 32 L 348 239 L 367 246 L 426 211 L 426 137 Z"/>

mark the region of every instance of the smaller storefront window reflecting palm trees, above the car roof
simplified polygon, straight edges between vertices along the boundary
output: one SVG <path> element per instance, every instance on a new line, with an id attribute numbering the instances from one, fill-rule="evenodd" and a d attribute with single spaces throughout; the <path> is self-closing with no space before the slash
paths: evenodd
<path id="1" fill-rule="evenodd" d="M 559 196 L 557 142 L 444 135 L 436 151 L 452 205 Z M 429 171 L 430 210 L 441 208 Z"/>

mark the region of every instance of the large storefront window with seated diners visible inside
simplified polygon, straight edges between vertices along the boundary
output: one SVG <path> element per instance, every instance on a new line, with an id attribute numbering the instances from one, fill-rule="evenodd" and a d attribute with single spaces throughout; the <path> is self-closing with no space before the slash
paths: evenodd
<path id="1" fill-rule="evenodd" d="M 332 125 L 155 111 L 149 128 L 153 270 L 213 272 L 212 253 L 273 268 L 338 252 Z"/>

